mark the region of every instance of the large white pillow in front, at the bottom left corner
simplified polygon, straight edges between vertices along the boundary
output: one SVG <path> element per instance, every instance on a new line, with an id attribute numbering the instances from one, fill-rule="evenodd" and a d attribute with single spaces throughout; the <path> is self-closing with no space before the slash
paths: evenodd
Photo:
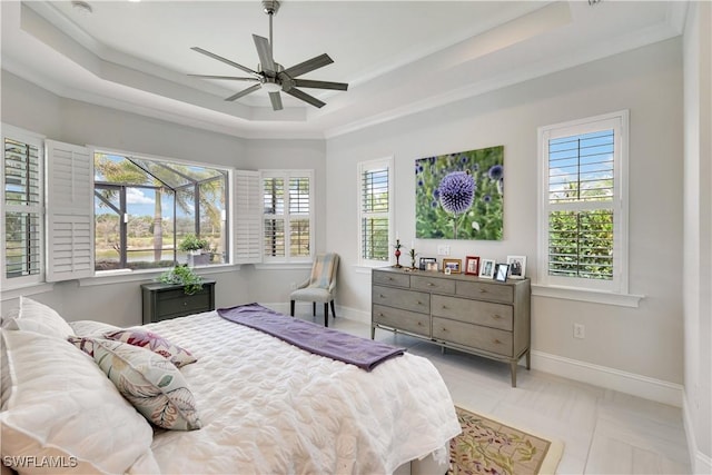
<path id="1" fill-rule="evenodd" d="M 0 413 L 3 461 L 38 461 L 12 468 L 47 474 L 40 462 L 55 461 L 52 473 L 126 473 L 150 456 L 151 426 L 90 357 L 33 331 L 2 338 L 12 379 Z"/>

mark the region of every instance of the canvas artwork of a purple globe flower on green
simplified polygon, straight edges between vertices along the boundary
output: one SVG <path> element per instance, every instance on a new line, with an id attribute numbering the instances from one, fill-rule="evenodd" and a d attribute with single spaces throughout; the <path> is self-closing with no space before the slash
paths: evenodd
<path id="1" fill-rule="evenodd" d="M 504 146 L 415 160 L 415 235 L 501 240 Z"/>

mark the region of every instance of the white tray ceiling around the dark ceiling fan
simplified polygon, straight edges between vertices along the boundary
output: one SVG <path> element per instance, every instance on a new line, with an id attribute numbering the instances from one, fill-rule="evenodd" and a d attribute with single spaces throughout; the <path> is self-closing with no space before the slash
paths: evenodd
<path id="1" fill-rule="evenodd" d="M 299 1 L 274 18 L 285 67 L 320 53 L 334 63 L 305 79 L 322 109 L 283 93 L 273 111 L 245 76 L 190 50 L 198 46 L 257 69 L 251 34 L 268 16 L 249 1 L 1 1 L 2 68 L 61 97 L 239 137 L 333 137 L 456 101 L 682 32 L 679 1 Z"/>

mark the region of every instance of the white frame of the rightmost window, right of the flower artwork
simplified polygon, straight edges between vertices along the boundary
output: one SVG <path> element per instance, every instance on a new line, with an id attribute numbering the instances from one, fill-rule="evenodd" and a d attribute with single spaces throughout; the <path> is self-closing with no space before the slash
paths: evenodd
<path id="1" fill-rule="evenodd" d="M 629 115 L 627 110 L 540 127 L 538 137 L 538 270 L 537 286 L 572 289 L 577 293 L 627 295 L 629 291 Z M 613 278 L 594 280 L 548 275 L 548 212 L 556 209 L 548 202 L 548 140 L 602 130 L 614 130 L 613 198 L 605 208 L 613 210 Z M 591 205 L 567 205 L 568 209 L 587 210 Z M 540 295 L 552 296 L 551 291 Z M 578 294 L 578 298 L 581 295 Z"/>

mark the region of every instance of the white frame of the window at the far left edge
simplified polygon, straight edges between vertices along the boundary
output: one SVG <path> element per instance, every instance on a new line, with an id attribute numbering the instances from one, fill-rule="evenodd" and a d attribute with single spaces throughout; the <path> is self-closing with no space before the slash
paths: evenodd
<path id="1" fill-rule="evenodd" d="M 38 205 L 32 206 L 9 206 L 6 202 L 6 194 L 4 194 L 4 180 L 6 180 L 6 166 L 4 166 L 4 140 L 11 139 L 19 141 L 21 144 L 36 147 L 37 148 L 37 166 L 38 166 L 38 182 L 39 182 L 39 202 Z M 0 215 L 2 219 L 2 229 L 7 229 L 6 219 L 8 212 L 28 212 L 28 214 L 37 214 L 38 215 L 38 226 L 39 226 L 39 247 L 38 247 L 38 258 L 39 258 L 39 271 L 37 274 L 31 274 L 28 276 L 21 277 L 8 277 L 7 276 L 7 259 L 6 259 L 6 236 L 4 232 L 2 235 L 2 239 L 0 239 L 0 255 L 2 256 L 3 266 L 1 269 L 0 283 L 2 284 L 3 293 L 10 289 L 17 289 L 22 287 L 29 287 L 34 285 L 40 285 L 46 281 L 46 228 L 47 228 L 47 208 L 44 202 L 44 197 L 47 196 L 47 184 L 44 181 L 46 172 L 46 147 L 44 147 L 46 137 L 39 133 L 31 132 L 29 130 L 21 129 L 19 127 L 10 126 L 2 123 L 2 145 L 3 145 L 3 156 L 2 156 L 2 167 L 0 167 L 0 181 L 3 186 L 2 198 L 0 199 Z"/>

